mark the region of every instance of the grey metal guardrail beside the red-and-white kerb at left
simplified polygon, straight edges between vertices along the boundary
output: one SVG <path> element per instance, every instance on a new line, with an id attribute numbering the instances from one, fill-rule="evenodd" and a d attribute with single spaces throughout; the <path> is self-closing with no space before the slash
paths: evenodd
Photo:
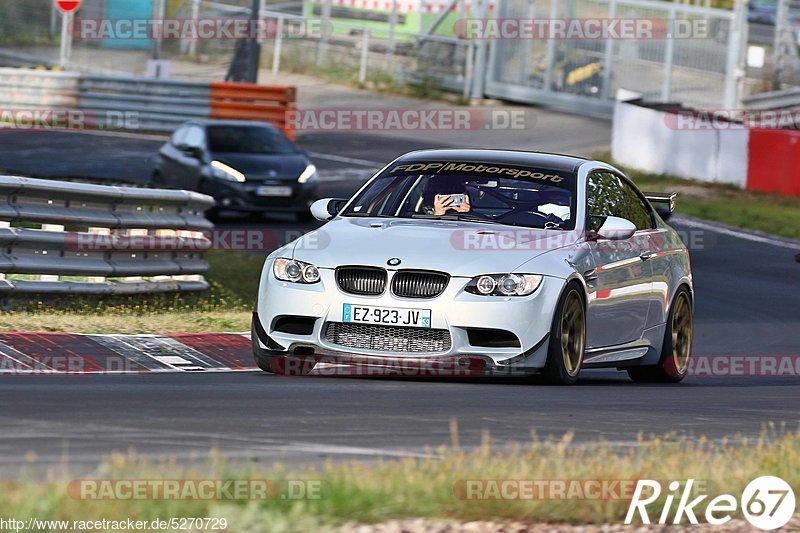
<path id="1" fill-rule="evenodd" d="M 0 176 L 0 199 L 1 295 L 208 288 L 209 196 Z"/>

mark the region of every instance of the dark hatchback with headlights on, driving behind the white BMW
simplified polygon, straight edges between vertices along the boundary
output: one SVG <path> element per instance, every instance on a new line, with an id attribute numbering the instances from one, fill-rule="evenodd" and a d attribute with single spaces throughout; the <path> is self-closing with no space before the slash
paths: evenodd
<path id="1" fill-rule="evenodd" d="M 158 152 L 153 184 L 213 196 L 211 215 L 291 212 L 311 217 L 316 167 L 276 127 L 252 121 L 192 121 Z"/>

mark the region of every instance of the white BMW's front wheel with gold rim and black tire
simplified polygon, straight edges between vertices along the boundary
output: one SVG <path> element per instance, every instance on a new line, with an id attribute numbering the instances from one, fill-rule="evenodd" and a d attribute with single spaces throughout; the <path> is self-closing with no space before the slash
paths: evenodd
<path id="1" fill-rule="evenodd" d="M 550 327 L 550 345 L 542 370 L 550 385 L 572 385 L 578 380 L 586 349 L 586 299 L 577 282 L 561 294 Z"/>

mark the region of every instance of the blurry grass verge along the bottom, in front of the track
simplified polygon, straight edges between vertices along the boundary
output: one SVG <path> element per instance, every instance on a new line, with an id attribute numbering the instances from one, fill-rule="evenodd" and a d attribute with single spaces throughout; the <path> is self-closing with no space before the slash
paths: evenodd
<path id="1" fill-rule="evenodd" d="M 710 442 L 670 436 L 640 439 L 620 449 L 608 443 L 576 446 L 566 436 L 560 442 L 534 439 L 529 445 L 496 449 L 488 443 L 474 451 L 441 449 L 428 457 L 374 463 L 327 463 L 323 467 L 287 470 L 255 463 L 231 465 L 222 460 L 203 466 L 180 467 L 174 462 L 151 463 L 135 455 L 116 456 L 88 476 L 94 480 L 274 480 L 311 482 L 316 498 L 276 496 L 258 500 L 138 501 L 74 499 L 67 492 L 70 477 L 51 474 L 46 482 L 34 477 L 0 484 L 0 516 L 24 520 L 86 518 L 153 520 L 170 517 L 217 517 L 228 521 L 228 531 L 309 531 L 345 523 L 382 523 L 405 518 L 522 521 L 525 523 L 619 524 L 629 499 L 466 498 L 466 481 L 557 480 L 662 482 L 662 497 L 648 507 L 657 520 L 672 480 L 696 480 L 693 498 L 708 494 L 695 507 L 720 494 L 741 496 L 752 479 L 776 475 L 795 491 L 800 489 L 800 438 L 774 428 L 755 440 Z M 63 471 L 62 471 L 63 472 Z M 84 476 L 87 477 L 87 476 Z M 40 478 L 41 479 L 41 478 Z M 474 486 L 474 485 L 473 485 Z M 483 484 L 481 486 L 488 487 Z M 281 492 L 280 494 L 286 494 Z M 475 494 L 490 496 L 489 491 Z M 574 495 L 577 496 L 577 495 Z M 674 516 L 678 497 L 670 504 Z M 733 513 L 741 516 L 737 510 Z"/>

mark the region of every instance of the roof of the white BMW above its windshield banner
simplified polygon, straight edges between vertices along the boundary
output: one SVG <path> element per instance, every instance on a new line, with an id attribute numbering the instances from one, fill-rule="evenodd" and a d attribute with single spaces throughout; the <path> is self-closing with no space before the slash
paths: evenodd
<path id="1" fill-rule="evenodd" d="M 417 150 L 415 152 L 409 152 L 400 156 L 397 159 L 397 162 L 399 163 L 401 161 L 479 161 L 486 163 L 542 167 L 561 172 L 575 172 L 579 166 L 588 160 L 582 157 L 548 154 L 545 152 L 469 148 Z"/>

